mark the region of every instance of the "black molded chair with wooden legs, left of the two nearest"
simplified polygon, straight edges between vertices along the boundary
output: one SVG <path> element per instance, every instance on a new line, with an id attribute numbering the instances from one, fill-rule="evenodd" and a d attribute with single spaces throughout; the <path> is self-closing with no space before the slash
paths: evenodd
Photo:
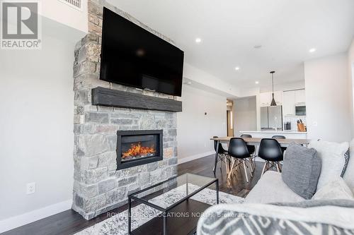
<path id="1" fill-rule="evenodd" d="M 246 181 L 249 182 L 249 176 L 247 174 L 247 166 L 246 163 L 249 161 L 249 150 L 247 148 L 246 142 L 242 138 L 231 138 L 229 143 L 229 156 L 232 159 L 232 166 L 229 171 L 229 176 L 227 179 L 231 178 L 232 170 L 234 168 L 239 167 L 240 164 L 244 165 L 244 173 L 246 175 Z M 236 164 L 236 165 L 235 165 Z M 253 176 L 252 171 L 250 169 L 251 177 Z"/>

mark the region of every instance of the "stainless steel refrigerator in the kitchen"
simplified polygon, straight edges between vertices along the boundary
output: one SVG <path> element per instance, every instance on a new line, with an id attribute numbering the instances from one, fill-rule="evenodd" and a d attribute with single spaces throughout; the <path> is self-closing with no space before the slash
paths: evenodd
<path id="1" fill-rule="evenodd" d="M 261 129 L 282 131 L 282 106 L 261 107 Z"/>

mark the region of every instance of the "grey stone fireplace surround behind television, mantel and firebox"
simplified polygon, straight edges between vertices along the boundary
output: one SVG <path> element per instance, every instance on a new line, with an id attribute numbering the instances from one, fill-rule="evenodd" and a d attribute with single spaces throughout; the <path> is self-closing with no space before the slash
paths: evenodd
<path id="1" fill-rule="evenodd" d="M 176 113 L 91 105 L 91 89 L 101 86 L 175 99 L 99 80 L 103 6 L 171 42 L 105 1 L 89 0 L 89 34 L 75 48 L 74 195 L 72 208 L 85 219 L 127 203 L 127 194 L 177 174 Z M 172 42 L 173 43 L 173 42 Z M 164 130 L 164 159 L 117 169 L 118 130 Z"/>

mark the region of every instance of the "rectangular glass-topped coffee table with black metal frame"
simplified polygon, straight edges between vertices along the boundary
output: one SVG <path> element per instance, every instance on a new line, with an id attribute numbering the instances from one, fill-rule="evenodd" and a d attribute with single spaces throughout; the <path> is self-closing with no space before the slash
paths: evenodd
<path id="1" fill-rule="evenodd" d="M 213 184 L 216 203 L 219 204 L 218 179 L 196 174 L 176 176 L 128 195 L 128 234 L 195 234 L 200 215 L 211 205 L 193 198 Z M 131 231 L 134 200 L 156 209 L 159 213 Z"/>

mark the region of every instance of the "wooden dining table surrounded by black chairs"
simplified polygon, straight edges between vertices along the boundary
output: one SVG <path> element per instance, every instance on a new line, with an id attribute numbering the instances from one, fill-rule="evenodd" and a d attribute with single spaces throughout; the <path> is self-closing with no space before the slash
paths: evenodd
<path id="1" fill-rule="evenodd" d="M 218 157 L 218 152 L 219 152 L 219 143 L 229 143 L 230 139 L 234 137 L 215 137 L 215 138 L 210 138 L 210 140 L 216 141 L 216 152 L 215 152 L 215 162 L 214 162 L 214 174 L 217 169 L 217 157 Z M 246 145 L 253 145 L 253 146 L 258 146 L 261 144 L 261 140 L 263 138 L 242 138 L 246 142 Z M 297 143 L 299 145 L 309 145 L 310 140 L 309 139 L 277 139 L 278 143 L 280 144 L 281 147 L 287 147 L 290 145 L 290 143 Z"/>

